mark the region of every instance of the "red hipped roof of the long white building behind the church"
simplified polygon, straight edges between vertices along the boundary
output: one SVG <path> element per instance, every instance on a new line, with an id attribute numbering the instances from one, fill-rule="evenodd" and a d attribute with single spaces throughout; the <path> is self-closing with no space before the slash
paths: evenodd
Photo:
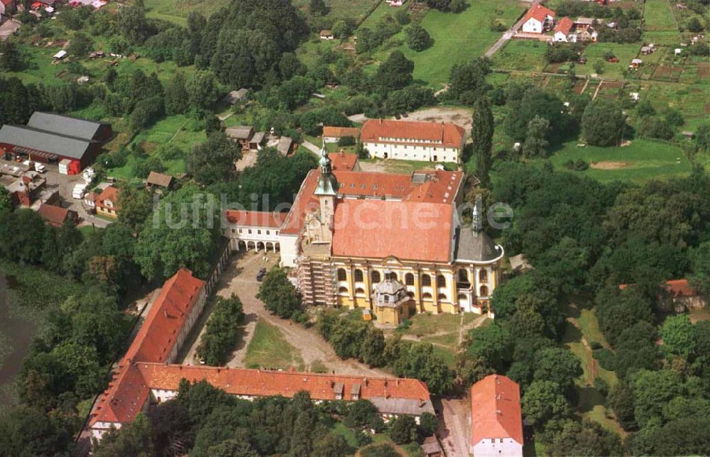
<path id="1" fill-rule="evenodd" d="M 459 148 L 464 133 L 463 128 L 453 123 L 370 119 L 362 127 L 360 140 L 363 143 L 413 143 Z"/>

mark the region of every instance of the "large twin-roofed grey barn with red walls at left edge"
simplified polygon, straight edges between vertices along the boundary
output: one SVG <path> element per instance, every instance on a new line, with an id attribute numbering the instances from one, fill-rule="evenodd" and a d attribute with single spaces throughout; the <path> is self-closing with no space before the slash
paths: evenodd
<path id="1" fill-rule="evenodd" d="M 61 172 L 76 175 L 96 160 L 110 136 L 109 124 L 35 111 L 27 126 L 0 128 L 0 153 L 21 159 L 31 156 L 38 162 L 65 161 Z"/>

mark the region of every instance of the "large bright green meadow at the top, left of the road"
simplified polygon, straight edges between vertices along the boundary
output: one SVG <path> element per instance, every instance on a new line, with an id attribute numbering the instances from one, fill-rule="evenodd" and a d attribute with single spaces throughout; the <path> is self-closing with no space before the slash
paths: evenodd
<path id="1" fill-rule="evenodd" d="M 468 3 L 468 8 L 458 14 L 442 13 L 435 9 L 427 11 L 421 24 L 434 40 L 429 49 L 417 53 L 407 45 L 398 48 L 408 59 L 413 60 L 415 80 L 440 87 L 449 79 L 454 64 L 480 57 L 498 40 L 501 32 L 491 31 L 491 21 L 511 26 L 524 10 L 515 0 L 476 0 Z M 381 9 L 378 8 L 375 13 Z M 376 16 L 373 14 L 364 26 L 373 27 L 375 24 Z M 395 36 L 402 40 L 405 37 L 404 32 Z M 390 52 L 386 50 L 377 57 L 384 59 Z"/>

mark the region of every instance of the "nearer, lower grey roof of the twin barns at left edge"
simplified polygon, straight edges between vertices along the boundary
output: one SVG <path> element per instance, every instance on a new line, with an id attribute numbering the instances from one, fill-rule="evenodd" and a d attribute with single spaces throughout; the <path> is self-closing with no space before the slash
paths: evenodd
<path id="1" fill-rule="evenodd" d="M 0 143 L 81 159 L 89 149 L 89 145 L 94 142 L 37 128 L 9 126 L 6 124 L 0 128 Z"/>

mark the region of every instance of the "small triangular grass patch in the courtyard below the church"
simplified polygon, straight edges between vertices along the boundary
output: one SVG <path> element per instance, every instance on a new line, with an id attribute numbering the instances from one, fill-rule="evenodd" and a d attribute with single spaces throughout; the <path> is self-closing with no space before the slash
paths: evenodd
<path id="1" fill-rule="evenodd" d="M 246 348 L 244 365 L 249 368 L 269 368 L 303 370 L 300 353 L 286 341 L 278 327 L 266 321 L 256 322 L 254 334 Z"/>

